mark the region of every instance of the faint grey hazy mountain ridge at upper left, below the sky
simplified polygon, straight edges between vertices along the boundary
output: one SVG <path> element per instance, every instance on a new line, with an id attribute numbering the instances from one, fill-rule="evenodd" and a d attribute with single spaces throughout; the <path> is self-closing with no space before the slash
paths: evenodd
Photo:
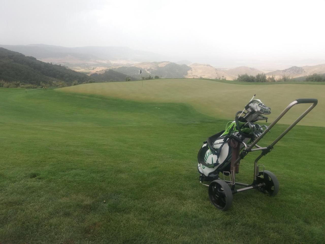
<path id="1" fill-rule="evenodd" d="M 0 45 L 6 49 L 33 56 L 41 61 L 52 61 L 61 64 L 110 64 L 112 61 L 134 63 L 141 61 L 161 60 L 161 55 L 134 50 L 129 47 L 61 47 L 44 44 L 32 45 Z"/>

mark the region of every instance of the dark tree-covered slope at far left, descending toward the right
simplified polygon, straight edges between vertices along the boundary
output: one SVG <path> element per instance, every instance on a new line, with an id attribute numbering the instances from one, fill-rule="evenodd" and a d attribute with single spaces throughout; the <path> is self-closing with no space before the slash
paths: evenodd
<path id="1" fill-rule="evenodd" d="M 0 47 L 0 80 L 39 86 L 41 82 L 49 85 L 66 82 L 71 85 L 74 80 L 82 83 L 90 79 L 88 75 L 61 65 L 45 63 Z"/>

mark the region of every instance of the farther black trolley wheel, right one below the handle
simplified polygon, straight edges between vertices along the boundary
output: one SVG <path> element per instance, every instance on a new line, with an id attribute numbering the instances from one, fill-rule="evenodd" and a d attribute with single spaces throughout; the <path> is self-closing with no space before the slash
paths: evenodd
<path id="1" fill-rule="evenodd" d="M 278 178 L 272 172 L 264 170 L 263 176 L 263 171 L 260 171 L 257 176 L 257 184 L 265 183 L 265 186 L 259 187 L 261 192 L 269 195 L 270 197 L 274 197 L 278 194 L 279 181 Z"/>

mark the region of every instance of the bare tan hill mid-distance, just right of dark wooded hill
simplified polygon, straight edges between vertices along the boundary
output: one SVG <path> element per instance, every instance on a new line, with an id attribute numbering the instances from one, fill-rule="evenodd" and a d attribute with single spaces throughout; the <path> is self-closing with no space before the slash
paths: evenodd
<path id="1" fill-rule="evenodd" d="M 223 70 L 218 70 L 209 64 L 193 63 L 189 65 L 190 70 L 188 71 L 186 78 L 210 78 L 210 79 L 227 79 L 233 80 L 236 77 L 227 74 Z"/>

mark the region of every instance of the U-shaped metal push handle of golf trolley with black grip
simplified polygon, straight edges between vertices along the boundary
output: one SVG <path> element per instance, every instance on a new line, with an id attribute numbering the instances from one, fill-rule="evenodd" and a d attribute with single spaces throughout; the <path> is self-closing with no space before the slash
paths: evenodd
<path id="1" fill-rule="evenodd" d="M 259 136 L 256 138 L 256 140 L 247 148 L 247 152 L 251 151 L 251 149 L 253 148 L 253 146 L 255 146 L 255 144 L 257 142 L 259 142 L 259 140 L 262 139 L 262 137 L 283 117 L 283 115 L 285 115 L 294 105 L 299 104 L 299 103 L 313 103 L 312 105 L 310 105 L 309 108 L 306 109 L 306 111 L 304 113 L 302 113 L 302 115 L 300 115 L 285 131 L 282 132 L 281 135 L 279 135 L 279 137 L 277 139 L 274 140 L 274 142 L 272 142 L 267 148 L 268 150 L 272 149 L 273 146 L 279 142 L 279 140 L 289 132 L 289 130 L 291 130 L 303 117 L 305 117 L 318 103 L 318 100 L 315 98 L 299 98 L 294 100 L 293 102 L 291 102 L 283 111 L 282 113 L 269 125 L 269 127 Z"/>

